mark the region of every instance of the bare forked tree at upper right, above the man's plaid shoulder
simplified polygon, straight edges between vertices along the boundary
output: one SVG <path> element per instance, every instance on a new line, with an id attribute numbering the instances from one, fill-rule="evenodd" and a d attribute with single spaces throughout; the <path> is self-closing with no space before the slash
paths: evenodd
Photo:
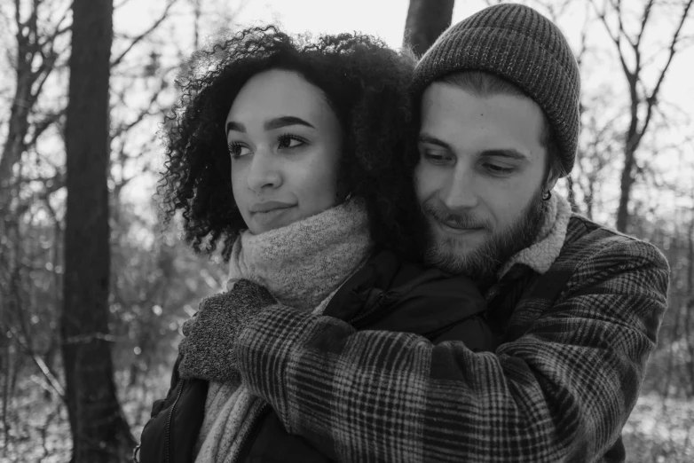
<path id="1" fill-rule="evenodd" d="M 619 56 L 620 67 L 627 78 L 629 122 L 624 134 L 624 169 L 619 182 L 620 196 L 617 210 L 617 229 L 620 232 L 626 232 L 629 222 L 629 200 L 639 171 L 636 153 L 643 137 L 649 131 L 653 115 L 659 106 L 660 90 L 662 90 L 667 71 L 673 62 L 674 55 L 681 50 L 682 27 L 690 16 L 691 4 L 694 2 L 693 0 L 683 0 L 673 4 L 671 2 L 645 0 L 635 33 L 629 33 L 625 26 L 627 12 L 622 0 L 604 0 L 602 4 L 597 4 L 597 0 L 592 1 L 599 19 L 610 35 L 611 42 Z M 647 67 L 654 65 L 652 60 L 647 57 L 643 36 L 647 29 L 654 27 L 652 25 L 653 12 L 658 7 L 676 8 L 677 11 L 674 15 L 670 13 L 674 17 L 675 23 L 674 30 L 666 45 L 665 64 L 656 70 L 655 83 L 649 85 L 644 82 L 643 75 L 646 74 L 644 71 L 647 71 Z"/>

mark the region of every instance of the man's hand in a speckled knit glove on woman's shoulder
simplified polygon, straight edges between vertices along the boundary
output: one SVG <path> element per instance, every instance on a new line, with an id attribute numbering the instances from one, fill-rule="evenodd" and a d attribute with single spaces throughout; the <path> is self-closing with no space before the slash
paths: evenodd
<path id="1" fill-rule="evenodd" d="M 248 279 L 203 299 L 198 313 L 183 326 L 185 338 L 178 347 L 183 356 L 178 366 L 181 378 L 239 381 L 234 343 L 257 312 L 275 303 L 267 289 Z"/>

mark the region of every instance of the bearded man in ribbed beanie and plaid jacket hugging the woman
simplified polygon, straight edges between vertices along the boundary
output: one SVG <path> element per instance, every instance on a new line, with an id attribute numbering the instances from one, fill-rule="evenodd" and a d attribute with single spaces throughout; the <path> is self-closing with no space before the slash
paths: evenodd
<path id="1" fill-rule="evenodd" d="M 430 263 L 477 279 L 504 343 L 357 332 L 240 285 L 256 314 L 230 341 L 242 381 L 341 461 L 624 461 L 668 267 L 552 194 L 579 137 L 564 36 L 530 8 L 487 8 L 438 39 L 415 87 Z"/>

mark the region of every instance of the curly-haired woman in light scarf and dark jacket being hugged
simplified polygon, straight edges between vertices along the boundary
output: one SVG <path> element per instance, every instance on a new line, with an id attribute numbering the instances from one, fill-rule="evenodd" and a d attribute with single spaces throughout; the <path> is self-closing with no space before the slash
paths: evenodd
<path id="1" fill-rule="evenodd" d="M 408 231 L 419 220 L 406 90 L 413 67 L 366 35 L 313 42 L 274 27 L 198 54 L 169 124 L 169 213 L 183 210 L 196 250 L 223 243 L 230 285 L 256 281 L 286 305 L 359 329 L 493 349 L 479 316 L 484 299 L 467 279 L 406 263 L 416 257 Z M 202 302 L 186 323 L 141 461 L 329 460 L 329 451 L 288 436 L 233 375 L 224 341 L 241 329 L 229 322 L 241 302 L 228 294 Z"/>

